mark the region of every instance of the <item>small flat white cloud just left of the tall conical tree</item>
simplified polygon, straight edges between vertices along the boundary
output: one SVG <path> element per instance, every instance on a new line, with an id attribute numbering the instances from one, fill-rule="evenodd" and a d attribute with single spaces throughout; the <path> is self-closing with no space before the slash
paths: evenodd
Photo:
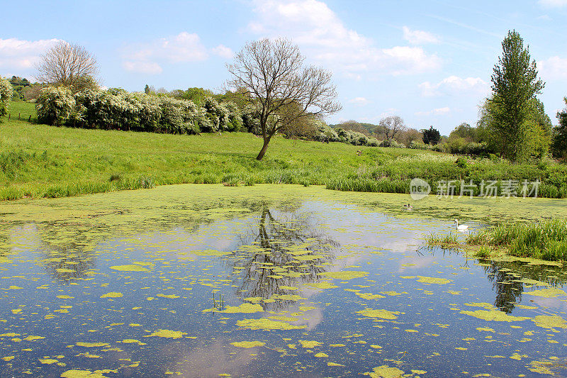
<path id="1" fill-rule="evenodd" d="M 488 94 L 488 84 L 480 77 L 462 79 L 461 77 L 449 76 L 437 84 L 423 82 L 419 87 L 424 97 Z"/>

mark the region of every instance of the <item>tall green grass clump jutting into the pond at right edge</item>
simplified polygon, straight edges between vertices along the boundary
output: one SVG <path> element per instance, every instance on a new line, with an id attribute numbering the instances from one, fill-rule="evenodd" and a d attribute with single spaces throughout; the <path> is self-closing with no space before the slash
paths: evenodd
<path id="1" fill-rule="evenodd" d="M 541 260 L 567 260 L 567 220 L 505 223 L 471 235 L 468 245 L 505 249 L 509 255 Z"/>

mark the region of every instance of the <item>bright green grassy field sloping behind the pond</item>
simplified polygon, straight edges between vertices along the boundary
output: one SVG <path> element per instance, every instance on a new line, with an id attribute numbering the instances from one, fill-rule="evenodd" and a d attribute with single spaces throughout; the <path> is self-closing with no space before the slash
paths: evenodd
<path id="1" fill-rule="evenodd" d="M 249 133 L 167 135 L 57 128 L 28 123 L 33 104 L 13 102 L 26 121 L 0 124 L 0 199 L 62 197 L 162 184 L 320 184 L 343 191 L 407 193 L 409 180 L 540 179 L 540 196 L 567 197 L 567 167 L 512 165 L 438 152 L 363 148 L 274 138 L 264 160 L 262 139 Z M 16 118 L 17 119 L 17 118 Z M 361 151 L 361 152 L 358 152 Z"/>

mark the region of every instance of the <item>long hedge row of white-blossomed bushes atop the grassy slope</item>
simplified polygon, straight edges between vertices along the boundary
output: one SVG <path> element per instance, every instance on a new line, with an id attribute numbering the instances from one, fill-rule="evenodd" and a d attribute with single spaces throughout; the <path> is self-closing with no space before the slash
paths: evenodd
<path id="1" fill-rule="evenodd" d="M 47 87 L 35 108 L 40 123 L 78 128 L 196 134 L 252 131 L 255 127 L 254 109 L 242 114 L 230 101 L 219 103 L 208 97 L 203 106 L 196 106 L 192 101 L 123 89 L 86 89 L 73 94 L 67 88 Z"/>

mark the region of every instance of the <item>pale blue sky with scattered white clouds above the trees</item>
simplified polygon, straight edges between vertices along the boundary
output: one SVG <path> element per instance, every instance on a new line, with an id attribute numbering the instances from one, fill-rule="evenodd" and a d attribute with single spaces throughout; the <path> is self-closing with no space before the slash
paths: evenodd
<path id="1" fill-rule="evenodd" d="M 554 124 L 567 96 L 567 0 L 522 1 L 9 1 L 2 5 L 0 75 L 33 77 L 54 40 L 83 45 L 106 87 L 204 87 L 249 40 L 283 36 L 332 70 L 343 109 L 329 123 L 399 115 L 443 134 L 476 123 L 510 29 L 546 82 Z"/>

